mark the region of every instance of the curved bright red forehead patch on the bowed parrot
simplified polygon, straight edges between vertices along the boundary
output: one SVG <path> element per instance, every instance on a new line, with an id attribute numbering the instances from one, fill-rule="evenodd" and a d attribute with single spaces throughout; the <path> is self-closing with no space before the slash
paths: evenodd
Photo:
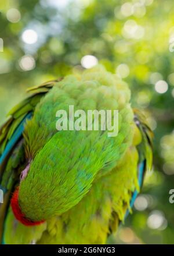
<path id="1" fill-rule="evenodd" d="M 26 216 L 21 212 L 21 208 L 19 206 L 19 187 L 16 188 L 12 195 L 11 199 L 11 207 L 14 216 L 16 217 L 17 221 L 21 222 L 23 225 L 26 226 L 36 226 L 41 223 L 44 223 L 45 221 L 31 221 L 30 219 L 27 219 Z"/>

